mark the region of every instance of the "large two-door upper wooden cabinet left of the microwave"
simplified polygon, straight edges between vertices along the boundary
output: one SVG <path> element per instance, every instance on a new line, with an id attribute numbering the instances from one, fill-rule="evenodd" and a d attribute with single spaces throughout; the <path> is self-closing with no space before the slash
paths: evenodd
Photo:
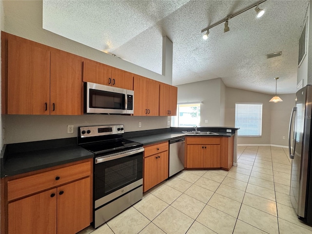
<path id="1" fill-rule="evenodd" d="M 81 115 L 82 60 L 2 32 L 2 114 Z"/>

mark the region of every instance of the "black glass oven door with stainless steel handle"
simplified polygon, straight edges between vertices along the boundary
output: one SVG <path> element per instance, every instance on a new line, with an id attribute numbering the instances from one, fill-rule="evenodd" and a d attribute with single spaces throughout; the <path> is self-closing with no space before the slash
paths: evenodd
<path id="1" fill-rule="evenodd" d="M 142 186 L 144 148 L 95 158 L 95 208 Z"/>

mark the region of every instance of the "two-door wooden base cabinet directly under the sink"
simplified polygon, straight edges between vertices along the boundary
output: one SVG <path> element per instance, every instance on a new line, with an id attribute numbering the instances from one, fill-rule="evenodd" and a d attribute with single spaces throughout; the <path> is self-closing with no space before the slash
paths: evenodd
<path id="1" fill-rule="evenodd" d="M 220 137 L 186 137 L 187 168 L 220 168 Z"/>

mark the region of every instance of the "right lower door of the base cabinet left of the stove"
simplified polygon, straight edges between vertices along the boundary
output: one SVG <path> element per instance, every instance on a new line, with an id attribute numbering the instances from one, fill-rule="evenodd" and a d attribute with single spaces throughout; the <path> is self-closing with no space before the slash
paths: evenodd
<path id="1" fill-rule="evenodd" d="M 77 233 L 90 225 L 90 177 L 58 187 L 58 234 Z"/>

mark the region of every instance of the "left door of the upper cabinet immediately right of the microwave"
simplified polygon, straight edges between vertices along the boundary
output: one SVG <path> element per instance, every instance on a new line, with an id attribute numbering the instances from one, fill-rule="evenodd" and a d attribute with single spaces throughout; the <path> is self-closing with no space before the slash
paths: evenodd
<path id="1" fill-rule="evenodd" d="M 133 90 L 135 91 L 134 116 L 146 116 L 148 109 L 148 79 L 136 75 L 133 84 Z"/>

